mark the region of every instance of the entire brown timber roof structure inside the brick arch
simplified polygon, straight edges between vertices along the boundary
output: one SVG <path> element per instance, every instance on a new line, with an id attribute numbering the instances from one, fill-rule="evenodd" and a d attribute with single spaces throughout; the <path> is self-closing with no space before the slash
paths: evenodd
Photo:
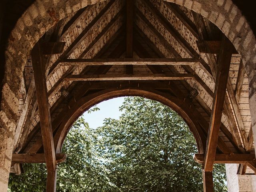
<path id="1" fill-rule="evenodd" d="M 55 191 L 72 123 L 117 96 L 158 100 L 184 118 L 196 138 L 205 191 L 213 191 L 214 163 L 240 164 L 239 174 L 256 172 L 240 56 L 208 20 L 162 0 L 100 2 L 70 14 L 40 39 L 20 89 L 12 168 L 45 162 L 47 191 Z"/>

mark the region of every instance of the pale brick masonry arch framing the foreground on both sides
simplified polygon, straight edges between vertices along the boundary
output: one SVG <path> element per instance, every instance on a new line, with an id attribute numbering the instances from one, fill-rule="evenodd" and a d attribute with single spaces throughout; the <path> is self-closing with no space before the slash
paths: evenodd
<path id="1" fill-rule="evenodd" d="M 0 110 L 0 189 L 6 191 L 12 141 L 18 111 L 18 91 L 26 58 L 39 38 L 58 20 L 89 4 L 103 0 L 36 0 L 12 30 L 5 52 L 6 68 Z M 232 0 L 167 0 L 202 14 L 230 39 L 242 56 L 249 78 L 251 114 L 256 114 L 256 38 L 246 18 Z M 252 116 L 256 136 L 256 116 Z M 255 139 L 255 137 L 254 137 Z"/>

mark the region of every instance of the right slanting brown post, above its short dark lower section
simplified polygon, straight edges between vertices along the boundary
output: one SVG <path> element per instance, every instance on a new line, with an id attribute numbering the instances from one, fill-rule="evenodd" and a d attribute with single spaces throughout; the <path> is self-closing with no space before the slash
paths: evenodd
<path id="1" fill-rule="evenodd" d="M 218 70 L 216 77 L 216 85 L 214 89 L 214 100 L 212 104 L 212 114 L 210 118 L 210 127 L 208 131 L 206 153 L 205 153 L 205 171 L 212 171 L 214 157 L 216 154 L 216 146 L 218 142 L 218 134 L 220 130 L 222 109 L 225 99 L 226 85 L 228 81 L 228 72 L 231 62 L 232 44 L 223 36 L 221 44 L 221 53 L 218 58 Z"/>

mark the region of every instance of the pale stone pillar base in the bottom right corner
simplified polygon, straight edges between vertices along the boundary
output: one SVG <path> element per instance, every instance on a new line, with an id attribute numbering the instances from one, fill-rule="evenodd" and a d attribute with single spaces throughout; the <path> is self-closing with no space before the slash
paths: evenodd
<path id="1" fill-rule="evenodd" d="M 226 164 L 228 192 L 256 192 L 255 175 L 237 175 L 237 164 Z"/>

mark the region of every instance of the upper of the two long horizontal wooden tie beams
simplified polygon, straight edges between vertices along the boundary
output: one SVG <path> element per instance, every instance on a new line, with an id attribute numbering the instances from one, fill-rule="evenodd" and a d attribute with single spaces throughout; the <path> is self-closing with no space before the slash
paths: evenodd
<path id="1" fill-rule="evenodd" d="M 103 58 L 103 59 L 63 59 L 60 65 L 196 65 L 192 58 Z"/>

